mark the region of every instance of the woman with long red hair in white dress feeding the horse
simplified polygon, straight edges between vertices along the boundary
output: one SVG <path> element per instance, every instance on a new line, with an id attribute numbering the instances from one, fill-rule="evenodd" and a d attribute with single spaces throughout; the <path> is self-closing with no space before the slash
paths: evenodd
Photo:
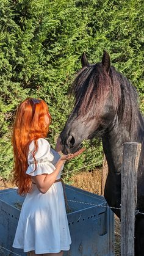
<path id="1" fill-rule="evenodd" d="M 13 247 L 29 256 L 62 256 L 71 244 L 60 174 L 65 161 L 83 150 L 60 157 L 59 139 L 56 151 L 45 139 L 50 123 L 45 101 L 27 98 L 13 127 L 14 180 L 20 195 L 27 194 Z"/>

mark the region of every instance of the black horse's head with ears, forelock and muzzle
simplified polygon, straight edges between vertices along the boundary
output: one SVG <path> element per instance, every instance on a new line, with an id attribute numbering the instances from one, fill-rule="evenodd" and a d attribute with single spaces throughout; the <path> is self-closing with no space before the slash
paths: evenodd
<path id="1" fill-rule="evenodd" d="M 117 97 L 112 97 L 110 57 L 104 51 L 102 62 L 88 64 L 85 54 L 82 69 L 73 82 L 75 104 L 60 138 L 62 152 L 73 153 L 84 139 L 104 133 L 115 117 Z"/>

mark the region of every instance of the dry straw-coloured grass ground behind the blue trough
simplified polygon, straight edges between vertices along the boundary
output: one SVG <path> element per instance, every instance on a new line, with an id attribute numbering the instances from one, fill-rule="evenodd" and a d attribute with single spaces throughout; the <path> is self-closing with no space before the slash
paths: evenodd
<path id="1" fill-rule="evenodd" d="M 70 177 L 71 185 L 101 195 L 101 169 L 92 172 L 81 172 Z M 0 177 L 0 189 L 13 188 L 10 182 L 4 182 Z M 115 216 L 115 256 L 120 256 L 120 221 Z"/>

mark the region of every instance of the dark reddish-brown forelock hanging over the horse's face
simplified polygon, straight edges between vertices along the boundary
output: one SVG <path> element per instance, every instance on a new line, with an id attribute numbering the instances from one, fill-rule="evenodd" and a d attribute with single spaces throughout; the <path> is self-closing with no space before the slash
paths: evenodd
<path id="1" fill-rule="evenodd" d="M 72 90 L 79 115 L 95 107 L 99 111 L 110 90 L 110 77 L 101 64 L 84 67 L 77 73 Z"/>

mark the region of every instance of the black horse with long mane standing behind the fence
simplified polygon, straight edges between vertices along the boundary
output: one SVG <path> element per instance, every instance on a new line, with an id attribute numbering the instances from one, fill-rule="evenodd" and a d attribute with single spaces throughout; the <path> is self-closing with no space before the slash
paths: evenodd
<path id="1" fill-rule="evenodd" d="M 60 134 L 62 152 L 73 153 L 84 139 L 101 136 L 109 166 L 104 196 L 110 207 L 120 208 L 121 162 L 124 142 L 142 143 L 137 174 L 137 209 L 144 213 L 144 119 L 131 82 L 110 66 L 104 51 L 102 62 L 88 64 L 82 55 L 82 69 L 73 82 L 75 104 Z M 120 211 L 113 210 L 120 218 Z M 135 216 L 135 256 L 144 255 L 144 215 Z"/>

